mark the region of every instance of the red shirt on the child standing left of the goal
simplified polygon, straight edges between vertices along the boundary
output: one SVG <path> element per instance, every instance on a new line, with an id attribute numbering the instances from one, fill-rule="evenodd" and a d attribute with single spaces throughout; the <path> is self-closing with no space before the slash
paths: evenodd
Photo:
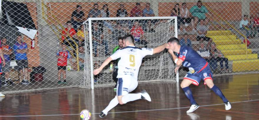
<path id="1" fill-rule="evenodd" d="M 63 56 L 61 59 L 58 58 L 58 66 L 67 66 L 67 59 L 69 59 L 71 57 L 71 55 L 69 54 L 68 50 L 67 51 L 62 51 L 60 50 L 57 53 L 57 56 Z"/>

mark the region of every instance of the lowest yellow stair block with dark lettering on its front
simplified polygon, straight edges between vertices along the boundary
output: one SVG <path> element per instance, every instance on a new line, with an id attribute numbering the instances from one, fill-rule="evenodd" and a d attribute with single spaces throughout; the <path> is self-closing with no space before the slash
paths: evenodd
<path id="1" fill-rule="evenodd" d="M 259 59 L 233 61 L 233 72 L 259 70 Z"/>

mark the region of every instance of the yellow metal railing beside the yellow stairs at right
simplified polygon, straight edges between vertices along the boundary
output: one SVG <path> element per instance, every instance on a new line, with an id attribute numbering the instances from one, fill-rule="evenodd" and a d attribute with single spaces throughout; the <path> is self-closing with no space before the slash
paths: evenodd
<path id="1" fill-rule="evenodd" d="M 221 29 L 225 28 L 227 30 L 227 28 L 223 25 L 222 21 L 225 22 L 230 28 L 232 28 L 233 30 L 235 30 L 236 32 L 238 32 L 238 34 L 240 34 L 242 37 L 245 38 L 245 49 L 246 49 L 246 59 L 248 59 L 248 55 L 247 55 L 247 37 L 245 35 L 243 35 L 240 31 L 238 31 L 233 25 L 231 25 L 230 23 L 228 23 L 228 21 L 224 20 L 220 15 L 218 15 L 218 13 L 216 13 L 215 11 L 213 11 L 211 8 L 209 8 L 207 5 L 204 4 L 204 6 L 210 11 L 212 12 L 214 15 L 216 15 L 218 18 L 220 18 L 221 21 L 217 21 L 214 17 L 212 17 L 212 19 L 214 21 L 216 21 L 217 23 L 219 23 L 221 25 Z M 243 41 L 242 41 L 243 42 Z"/>

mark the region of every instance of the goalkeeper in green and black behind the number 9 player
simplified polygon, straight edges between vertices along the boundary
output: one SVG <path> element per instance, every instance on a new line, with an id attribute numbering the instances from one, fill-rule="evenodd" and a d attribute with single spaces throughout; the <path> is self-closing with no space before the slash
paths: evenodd
<path id="1" fill-rule="evenodd" d="M 118 44 L 112 51 L 112 54 L 114 54 L 117 50 L 119 49 L 122 49 L 123 48 L 123 42 L 122 42 L 123 38 L 122 37 L 118 37 Z M 112 67 L 113 67 L 113 64 L 115 64 L 115 67 L 114 67 L 114 70 L 113 70 L 113 73 L 112 73 L 112 79 L 114 80 L 114 82 L 116 83 L 116 85 L 114 86 L 113 90 L 116 92 L 117 90 L 117 82 L 118 82 L 118 78 L 117 78 L 117 75 L 118 75 L 118 62 L 119 62 L 120 58 L 118 58 L 117 60 L 114 60 L 111 62 L 110 64 L 110 68 L 109 68 L 109 71 L 111 72 L 112 71 Z"/>

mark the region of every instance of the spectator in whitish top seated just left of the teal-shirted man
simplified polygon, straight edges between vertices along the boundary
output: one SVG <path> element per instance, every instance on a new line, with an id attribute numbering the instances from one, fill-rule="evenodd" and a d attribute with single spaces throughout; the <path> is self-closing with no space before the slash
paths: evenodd
<path id="1" fill-rule="evenodd" d="M 183 20 L 184 26 L 187 27 L 191 23 L 192 31 L 195 31 L 193 18 L 190 17 L 190 12 L 187 8 L 186 3 L 182 3 L 182 8 L 180 9 L 180 15 Z M 185 28 L 183 28 L 183 31 L 186 31 Z"/>

